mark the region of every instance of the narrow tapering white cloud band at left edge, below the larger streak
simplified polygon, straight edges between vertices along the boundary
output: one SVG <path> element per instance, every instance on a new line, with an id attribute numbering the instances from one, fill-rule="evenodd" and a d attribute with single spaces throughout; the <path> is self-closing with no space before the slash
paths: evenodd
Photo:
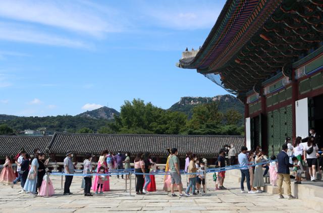
<path id="1" fill-rule="evenodd" d="M 31 42 L 53 46 L 66 46 L 74 48 L 91 48 L 83 41 L 65 38 L 38 31 L 32 27 L 25 27 L 20 24 L 8 24 L 0 22 L 0 39 L 9 41 Z"/>

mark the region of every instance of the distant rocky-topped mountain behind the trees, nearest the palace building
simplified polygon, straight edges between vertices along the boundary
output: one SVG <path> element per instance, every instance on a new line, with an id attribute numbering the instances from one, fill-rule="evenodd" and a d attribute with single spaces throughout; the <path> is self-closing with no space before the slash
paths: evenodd
<path id="1" fill-rule="evenodd" d="M 180 101 L 173 104 L 168 110 L 183 112 L 191 118 L 193 108 L 197 105 L 209 103 L 212 101 L 219 102 L 219 111 L 227 112 L 229 109 L 235 109 L 242 115 L 244 114 L 244 104 L 233 95 L 217 95 L 214 97 L 182 97 Z"/>

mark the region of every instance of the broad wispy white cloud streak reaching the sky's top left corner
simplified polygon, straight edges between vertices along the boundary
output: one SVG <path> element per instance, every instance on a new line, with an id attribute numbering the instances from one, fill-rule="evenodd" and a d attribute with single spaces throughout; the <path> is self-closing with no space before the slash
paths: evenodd
<path id="1" fill-rule="evenodd" d="M 99 9 L 99 8 L 104 8 Z M 119 32 L 116 11 L 90 2 L 7 0 L 1 2 L 0 16 L 18 21 L 43 24 L 102 36 L 106 32 Z"/>

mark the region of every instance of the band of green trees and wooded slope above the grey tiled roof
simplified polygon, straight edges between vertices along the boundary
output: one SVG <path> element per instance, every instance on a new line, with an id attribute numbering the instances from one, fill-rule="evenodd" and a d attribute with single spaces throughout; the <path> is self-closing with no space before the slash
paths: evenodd
<path id="1" fill-rule="evenodd" d="M 163 110 L 141 99 L 126 100 L 113 121 L 73 116 L 19 117 L 0 125 L 0 134 L 46 127 L 49 131 L 100 134 L 215 134 L 241 135 L 242 115 L 235 109 L 222 113 L 217 102 L 197 105 L 192 117 Z"/>

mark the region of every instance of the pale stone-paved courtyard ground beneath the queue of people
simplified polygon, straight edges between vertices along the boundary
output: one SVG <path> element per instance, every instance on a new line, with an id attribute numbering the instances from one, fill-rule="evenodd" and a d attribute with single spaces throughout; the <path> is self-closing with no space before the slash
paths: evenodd
<path id="1" fill-rule="evenodd" d="M 241 194 L 238 183 L 225 181 L 228 190 L 214 190 L 214 182 L 208 174 L 206 194 L 199 194 L 185 198 L 170 197 L 161 191 L 163 176 L 156 176 L 157 192 L 147 195 L 135 195 L 134 178 L 132 179 L 132 196 L 125 192 L 125 181 L 115 176 L 110 179 L 110 192 L 85 197 L 81 189 L 82 179 L 75 176 L 71 186 L 73 195 L 64 196 L 61 189 L 61 177 L 51 176 L 56 189 L 52 197 L 33 197 L 19 194 L 20 185 L 0 186 L 0 212 L 310 212 L 317 211 L 303 206 L 301 200 L 278 199 L 277 195 L 268 193 Z M 182 177 L 186 185 L 186 177 Z M 128 182 L 129 190 L 129 182 Z"/>

